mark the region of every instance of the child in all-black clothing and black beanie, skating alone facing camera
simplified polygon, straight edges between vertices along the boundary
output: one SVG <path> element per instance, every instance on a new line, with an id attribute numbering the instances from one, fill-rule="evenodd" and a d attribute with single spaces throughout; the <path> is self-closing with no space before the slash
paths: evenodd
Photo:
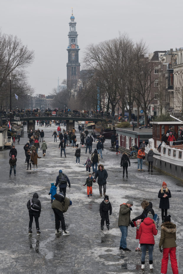
<path id="1" fill-rule="evenodd" d="M 100 227 L 104 230 L 104 221 L 106 223 L 107 229 L 110 230 L 110 222 L 109 222 L 109 215 L 112 214 L 112 206 L 109 202 L 109 196 L 105 195 L 104 200 L 100 204 Z"/>

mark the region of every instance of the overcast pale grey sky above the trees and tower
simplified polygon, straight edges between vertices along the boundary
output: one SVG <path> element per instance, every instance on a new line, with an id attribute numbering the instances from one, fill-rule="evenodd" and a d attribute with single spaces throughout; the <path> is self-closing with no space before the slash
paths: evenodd
<path id="1" fill-rule="evenodd" d="M 183 47 L 183 2 L 170 0 L 6 0 L 1 2 L 1 31 L 17 35 L 35 51 L 27 70 L 35 94 L 48 95 L 66 78 L 71 7 L 78 32 L 79 61 L 85 47 L 128 33 L 146 41 L 150 52 Z"/>

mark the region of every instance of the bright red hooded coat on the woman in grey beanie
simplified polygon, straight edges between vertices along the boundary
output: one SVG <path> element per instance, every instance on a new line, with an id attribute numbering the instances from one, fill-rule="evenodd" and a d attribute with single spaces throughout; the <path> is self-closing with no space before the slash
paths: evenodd
<path id="1" fill-rule="evenodd" d="M 158 230 L 154 224 L 154 221 L 147 217 L 143 223 L 140 224 L 139 228 L 139 243 L 154 245 L 154 236 L 157 235 Z"/>

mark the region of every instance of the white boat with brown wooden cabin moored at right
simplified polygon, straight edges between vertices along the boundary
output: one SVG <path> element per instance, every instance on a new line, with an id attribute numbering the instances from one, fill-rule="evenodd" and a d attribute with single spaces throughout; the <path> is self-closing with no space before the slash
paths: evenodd
<path id="1" fill-rule="evenodd" d="M 183 181 L 183 145 L 177 145 L 173 143 L 172 146 L 166 145 L 164 142 L 158 150 L 158 146 L 161 143 L 161 136 L 166 134 L 170 126 L 175 131 L 175 139 L 179 136 L 179 126 L 183 122 L 152 122 L 153 124 L 153 137 L 149 139 L 148 145 L 145 148 L 146 162 L 147 154 L 152 148 L 155 153 L 159 153 L 160 156 L 153 156 L 153 166 L 166 174 L 176 177 Z"/>

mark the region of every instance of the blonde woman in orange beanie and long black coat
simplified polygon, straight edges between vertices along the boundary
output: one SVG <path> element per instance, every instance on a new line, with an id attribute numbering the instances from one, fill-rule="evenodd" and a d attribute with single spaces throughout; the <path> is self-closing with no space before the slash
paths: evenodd
<path id="1" fill-rule="evenodd" d="M 162 187 L 158 193 L 158 198 L 160 198 L 159 208 L 161 208 L 161 219 L 162 223 L 164 223 L 164 215 L 167 216 L 167 209 L 170 208 L 169 198 L 171 198 L 171 192 L 165 182 L 163 182 Z"/>

